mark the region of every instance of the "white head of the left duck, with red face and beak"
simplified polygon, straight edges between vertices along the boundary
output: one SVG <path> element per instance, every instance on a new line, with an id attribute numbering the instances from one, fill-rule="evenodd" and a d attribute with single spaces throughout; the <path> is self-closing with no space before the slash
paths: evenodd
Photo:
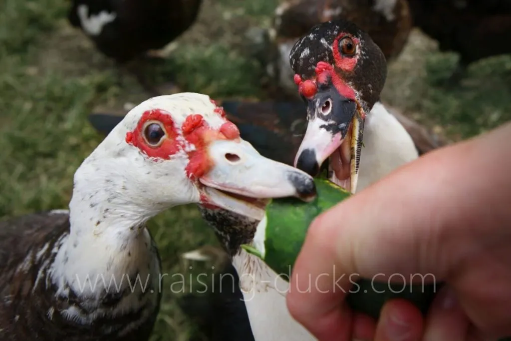
<path id="1" fill-rule="evenodd" d="M 106 184 L 91 184 L 98 173 Z M 310 175 L 263 157 L 221 107 L 195 93 L 155 97 L 131 109 L 82 164 L 77 186 L 88 188 L 76 196 L 106 186 L 105 200 L 147 218 L 197 203 L 260 219 L 266 198 L 316 194 Z"/>

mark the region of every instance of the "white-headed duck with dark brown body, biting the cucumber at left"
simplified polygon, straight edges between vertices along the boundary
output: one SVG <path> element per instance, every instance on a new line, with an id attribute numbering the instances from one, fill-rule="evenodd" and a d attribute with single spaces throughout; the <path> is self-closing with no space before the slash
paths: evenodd
<path id="1" fill-rule="evenodd" d="M 0 339 L 147 340 L 162 290 L 148 219 L 196 203 L 257 222 L 265 198 L 314 195 L 311 176 L 259 154 L 208 96 L 144 101 L 77 169 L 68 211 L 0 223 Z M 216 227 L 224 245 L 250 239 Z"/>

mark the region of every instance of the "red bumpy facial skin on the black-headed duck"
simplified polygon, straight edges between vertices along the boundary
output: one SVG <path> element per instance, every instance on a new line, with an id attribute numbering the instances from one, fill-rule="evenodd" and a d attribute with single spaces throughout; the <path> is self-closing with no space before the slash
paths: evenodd
<path id="1" fill-rule="evenodd" d="M 343 56 L 339 52 L 339 41 L 344 37 L 350 37 L 355 44 L 359 44 L 360 40 L 351 36 L 347 33 L 340 33 L 337 38 L 334 40 L 334 46 L 333 46 L 333 54 L 334 54 L 334 60 L 335 60 L 335 67 L 341 71 L 342 73 L 352 73 L 355 69 L 355 66 L 358 62 L 358 56 L 354 57 L 347 57 Z M 339 77 L 339 75 L 336 73 L 336 70 L 334 69 L 334 66 L 324 62 L 320 61 L 316 64 L 315 68 L 316 75 L 313 76 L 311 79 L 302 79 L 300 75 L 294 75 L 294 82 L 296 85 L 298 85 L 298 93 L 301 96 L 304 96 L 306 99 L 312 99 L 314 95 L 317 93 L 317 84 L 325 84 L 328 81 L 328 78 L 332 79 L 332 83 L 334 87 L 337 89 L 339 94 L 344 96 L 347 99 L 356 100 L 356 94 L 355 90 L 353 88 L 346 84 L 344 80 Z"/>

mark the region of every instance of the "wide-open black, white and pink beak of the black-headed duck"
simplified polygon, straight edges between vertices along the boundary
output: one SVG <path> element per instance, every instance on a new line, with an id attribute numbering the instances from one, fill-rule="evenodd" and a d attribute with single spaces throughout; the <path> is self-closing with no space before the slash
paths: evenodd
<path id="1" fill-rule="evenodd" d="M 357 102 L 330 86 L 308 100 L 307 116 L 307 131 L 296 154 L 295 167 L 316 176 L 328 159 L 329 179 L 355 193 L 364 130 Z"/>

